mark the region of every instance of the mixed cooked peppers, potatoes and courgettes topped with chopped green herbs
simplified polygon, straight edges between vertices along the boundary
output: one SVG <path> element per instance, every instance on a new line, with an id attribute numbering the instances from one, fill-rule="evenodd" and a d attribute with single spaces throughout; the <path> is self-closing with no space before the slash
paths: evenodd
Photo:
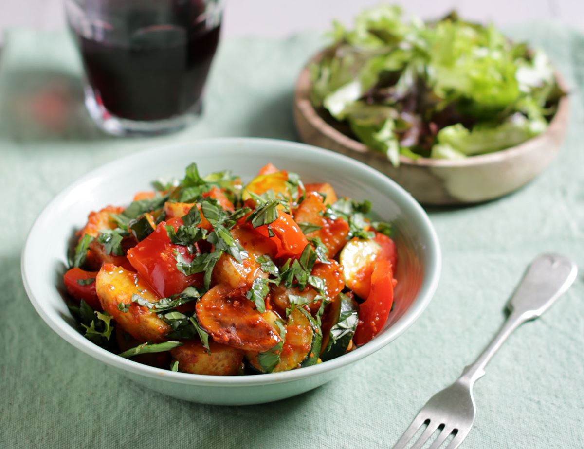
<path id="1" fill-rule="evenodd" d="M 268 164 L 155 182 L 89 214 L 64 274 L 92 342 L 194 374 L 293 370 L 369 342 L 391 312 L 396 252 L 369 201 Z"/>

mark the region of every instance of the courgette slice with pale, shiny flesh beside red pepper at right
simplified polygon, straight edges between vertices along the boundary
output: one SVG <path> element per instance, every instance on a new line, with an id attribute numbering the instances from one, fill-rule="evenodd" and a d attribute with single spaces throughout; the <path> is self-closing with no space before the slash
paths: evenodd
<path id="1" fill-rule="evenodd" d="M 351 239 L 340 252 L 345 285 L 366 300 L 371 290 L 371 273 L 381 245 L 374 240 Z"/>

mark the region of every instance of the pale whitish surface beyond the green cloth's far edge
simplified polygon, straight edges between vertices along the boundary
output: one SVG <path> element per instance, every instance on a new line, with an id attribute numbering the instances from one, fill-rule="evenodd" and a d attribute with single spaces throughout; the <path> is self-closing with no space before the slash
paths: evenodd
<path id="1" fill-rule="evenodd" d="M 65 25 L 62 2 L 1 0 L 0 31 L 12 26 L 42 30 L 61 28 Z M 225 37 L 283 37 L 306 30 L 322 30 L 333 19 L 350 22 L 360 9 L 379 3 L 380 0 L 227 0 L 223 33 Z M 465 18 L 491 20 L 503 26 L 555 19 L 584 30 L 582 0 L 401 0 L 391 3 L 402 5 L 405 11 L 425 19 L 456 9 Z"/>

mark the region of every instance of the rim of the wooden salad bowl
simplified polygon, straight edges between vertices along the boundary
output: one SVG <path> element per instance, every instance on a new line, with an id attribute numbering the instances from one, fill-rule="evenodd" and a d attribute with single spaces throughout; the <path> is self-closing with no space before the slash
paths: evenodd
<path id="1" fill-rule="evenodd" d="M 322 50 L 315 53 L 304 65 L 303 69 L 298 74 L 296 80 L 296 86 L 294 88 L 294 106 L 299 110 L 300 114 L 304 116 L 304 119 L 310 123 L 310 125 L 318 130 L 319 133 L 326 135 L 332 141 L 337 142 L 339 145 L 349 149 L 350 151 L 357 152 L 359 154 L 368 154 L 374 158 L 378 158 L 383 162 L 390 163 L 388 159 L 376 151 L 371 150 L 367 145 L 360 141 L 354 140 L 348 135 L 342 133 L 335 127 L 327 123 L 317 112 L 317 109 L 312 105 L 310 101 L 310 65 L 314 62 L 318 62 L 321 58 L 329 51 L 329 48 L 323 48 Z M 399 163 L 401 165 L 411 165 L 420 167 L 436 167 L 436 168 L 464 168 L 468 166 L 477 166 L 498 163 L 506 160 L 507 158 L 512 158 L 513 156 L 519 156 L 524 152 L 529 152 L 533 145 L 537 145 L 540 142 L 545 143 L 545 140 L 551 133 L 561 130 L 565 131 L 566 125 L 568 123 L 568 112 L 569 112 L 569 91 L 566 86 L 566 82 L 562 75 L 554 69 L 555 79 L 559 87 L 566 92 L 558 102 L 558 109 L 556 110 L 554 116 L 550 120 L 547 129 L 535 137 L 532 137 L 519 145 L 513 147 L 500 149 L 498 151 L 493 151 L 486 154 L 479 154 L 474 156 L 469 156 L 464 159 L 432 159 L 432 158 L 418 158 L 410 159 L 404 155 L 399 155 Z M 298 123 L 296 123 L 298 128 Z"/>

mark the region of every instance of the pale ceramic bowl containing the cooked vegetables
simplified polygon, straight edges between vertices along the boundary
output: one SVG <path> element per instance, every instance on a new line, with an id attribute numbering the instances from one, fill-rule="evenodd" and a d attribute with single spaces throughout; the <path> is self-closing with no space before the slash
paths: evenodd
<path id="1" fill-rule="evenodd" d="M 201 173 L 232 169 L 251 179 L 272 162 L 306 182 L 329 182 L 339 196 L 369 199 L 374 211 L 395 226 L 398 249 L 396 306 L 383 332 L 341 357 L 284 373 L 218 377 L 175 373 L 118 357 L 85 339 L 61 296 L 68 242 L 91 210 L 130 203 L 159 177 L 182 177 L 190 162 Z M 51 235 L 50 239 L 46 236 Z M 318 387 L 351 364 L 394 340 L 426 308 L 440 275 L 440 246 L 418 203 L 381 173 L 339 154 L 279 140 L 228 138 L 152 148 L 101 166 L 67 187 L 39 215 L 22 254 L 22 278 L 41 318 L 77 349 L 116 368 L 148 388 L 187 401 L 243 405 L 288 398 Z"/>

